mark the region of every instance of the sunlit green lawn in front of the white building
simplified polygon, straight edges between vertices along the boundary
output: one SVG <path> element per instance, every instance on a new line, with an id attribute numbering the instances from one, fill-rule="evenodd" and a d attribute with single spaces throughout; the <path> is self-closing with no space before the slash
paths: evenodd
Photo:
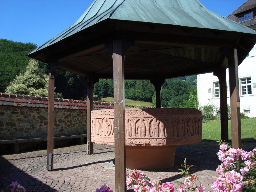
<path id="1" fill-rule="evenodd" d="M 203 123 L 203 140 L 220 140 L 220 120 Z M 241 119 L 242 141 L 256 140 L 256 118 Z M 228 139 L 231 140 L 231 124 L 228 120 Z"/>

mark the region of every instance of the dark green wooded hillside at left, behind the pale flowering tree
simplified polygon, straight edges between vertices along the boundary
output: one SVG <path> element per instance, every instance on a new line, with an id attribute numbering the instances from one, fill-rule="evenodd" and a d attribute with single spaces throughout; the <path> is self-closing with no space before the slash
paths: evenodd
<path id="1" fill-rule="evenodd" d="M 26 55 L 36 47 L 32 43 L 0 39 L 0 92 L 5 92 L 15 77 L 25 72 L 30 59 Z M 48 65 L 40 61 L 38 63 L 42 72 L 48 76 Z M 63 98 L 86 99 L 86 84 L 81 76 L 59 69 L 56 72 L 55 87 L 55 92 L 62 93 Z"/>

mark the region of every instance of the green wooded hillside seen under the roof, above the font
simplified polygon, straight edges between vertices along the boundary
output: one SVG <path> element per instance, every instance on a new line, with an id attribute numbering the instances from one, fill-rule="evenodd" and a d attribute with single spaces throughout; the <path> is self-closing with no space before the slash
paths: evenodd
<path id="1" fill-rule="evenodd" d="M 166 79 L 162 86 L 162 107 L 194 107 L 197 103 L 195 80 L 196 75 Z M 152 102 L 155 98 L 155 87 L 149 81 L 125 80 L 124 87 L 126 99 Z M 94 94 L 100 98 L 113 97 L 113 80 L 100 79 L 94 85 Z"/>

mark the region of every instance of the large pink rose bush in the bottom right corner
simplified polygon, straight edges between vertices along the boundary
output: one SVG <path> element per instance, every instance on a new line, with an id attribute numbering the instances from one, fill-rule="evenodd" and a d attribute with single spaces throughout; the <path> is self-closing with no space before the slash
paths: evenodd
<path id="1" fill-rule="evenodd" d="M 247 152 L 243 149 L 231 148 L 224 141 L 218 142 L 220 150 L 217 155 L 222 163 L 216 169 L 219 175 L 211 186 L 212 190 L 214 192 L 256 191 L 256 148 Z M 241 164 L 239 157 L 244 161 Z"/>

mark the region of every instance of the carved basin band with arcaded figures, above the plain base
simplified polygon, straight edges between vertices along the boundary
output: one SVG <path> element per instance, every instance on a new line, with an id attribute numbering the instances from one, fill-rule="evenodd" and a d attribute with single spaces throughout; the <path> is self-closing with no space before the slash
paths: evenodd
<path id="1" fill-rule="evenodd" d="M 175 138 L 191 142 L 189 137 L 202 135 L 201 113 L 196 109 L 126 109 L 125 114 L 128 145 L 164 144 L 167 140 L 175 143 Z M 113 109 L 92 111 L 93 139 L 96 143 L 114 144 Z"/>

